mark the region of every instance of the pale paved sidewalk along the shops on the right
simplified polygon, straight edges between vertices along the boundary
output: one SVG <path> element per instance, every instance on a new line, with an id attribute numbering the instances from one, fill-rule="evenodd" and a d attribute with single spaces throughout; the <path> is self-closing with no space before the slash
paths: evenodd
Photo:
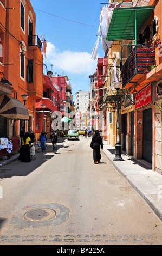
<path id="1" fill-rule="evenodd" d="M 137 190 L 144 198 L 151 209 L 162 221 L 162 175 L 146 167 L 146 162 L 142 164 L 135 161 L 133 157 L 125 156 L 125 161 L 113 161 L 115 158 L 115 148 L 103 141 L 102 153 L 108 158 L 113 166 L 124 176 L 129 184 Z"/>

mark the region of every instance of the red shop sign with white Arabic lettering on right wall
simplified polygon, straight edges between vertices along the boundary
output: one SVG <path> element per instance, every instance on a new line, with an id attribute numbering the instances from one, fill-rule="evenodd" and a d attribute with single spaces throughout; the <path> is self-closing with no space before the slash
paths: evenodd
<path id="1" fill-rule="evenodd" d="M 152 94 L 151 94 L 151 84 L 147 86 L 144 90 L 141 90 L 140 93 L 135 95 L 135 109 L 145 106 L 148 103 L 152 102 Z"/>

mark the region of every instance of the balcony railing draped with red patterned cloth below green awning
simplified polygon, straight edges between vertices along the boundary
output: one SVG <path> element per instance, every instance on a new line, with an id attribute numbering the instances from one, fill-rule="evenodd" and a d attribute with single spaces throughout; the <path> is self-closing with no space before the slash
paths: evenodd
<path id="1" fill-rule="evenodd" d="M 155 65 L 155 50 L 152 46 L 135 46 L 122 66 L 122 88 L 137 74 L 147 74 Z"/>

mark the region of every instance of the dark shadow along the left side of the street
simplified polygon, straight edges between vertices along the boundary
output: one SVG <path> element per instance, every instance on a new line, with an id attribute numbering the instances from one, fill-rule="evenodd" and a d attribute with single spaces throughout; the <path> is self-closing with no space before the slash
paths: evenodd
<path id="1" fill-rule="evenodd" d="M 57 154 L 61 154 L 59 149 L 64 147 L 64 141 L 66 138 L 59 138 L 57 144 Z M 0 167 L 0 179 L 11 178 L 12 176 L 28 176 L 42 164 L 46 163 L 48 160 L 55 158 L 57 154 L 53 153 L 53 145 L 50 141 L 46 144 L 46 152 L 37 151 L 35 156 L 36 159 L 31 160 L 31 162 L 24 163 L 19 160 L 15 160 L 7 164 L 7 166 Z"/>

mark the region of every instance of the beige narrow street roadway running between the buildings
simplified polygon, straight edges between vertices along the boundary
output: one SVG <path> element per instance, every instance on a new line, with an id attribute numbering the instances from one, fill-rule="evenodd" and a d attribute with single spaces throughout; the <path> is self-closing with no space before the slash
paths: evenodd
<path id="1" fill-rule="evenodd" d="M 160 245 L 162 223 L 91 138 L 0 168 L 0 245 Z"/>

